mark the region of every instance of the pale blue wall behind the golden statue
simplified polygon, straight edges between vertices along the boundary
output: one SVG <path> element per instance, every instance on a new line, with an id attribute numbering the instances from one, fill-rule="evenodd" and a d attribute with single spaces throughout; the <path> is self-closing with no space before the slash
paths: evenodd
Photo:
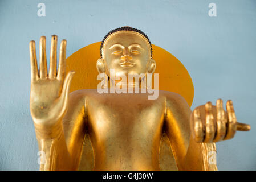
<path id="1" fill-rule="evenodd" d="M 37 5 L 46 5 L 46 17 Z M 72 3 L 71 3 L 72 2 Z M 208 4 L 217 17 L 208 16 Z M 39 169 L 29 111 L 29 41 L 67 39 L 67 56 L 132 26 L 176 56 L 192 77 L 192 109 L 232 99 L 249 133 L 217 143 L 218 169 L 256 169 L 256 1 L 0 1 L 0 169 Z M 161 76 L 160 76 L 161 78 Z"/>

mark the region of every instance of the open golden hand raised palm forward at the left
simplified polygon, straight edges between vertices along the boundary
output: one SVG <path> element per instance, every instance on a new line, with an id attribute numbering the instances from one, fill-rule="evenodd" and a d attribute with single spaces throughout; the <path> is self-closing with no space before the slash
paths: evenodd
<path id="1" fill-rule="evenodd" d="M 40 69 L 35 52 L 35 41 L 30 41 L 31 61 L 31 92 L 30 111 L 33 121 L 37 125 L 52 126 L 63 117 L 67 110 L 68 92 L 74 71 L 66 72 L 66 40 L 60 43 L 58 73 L 57 64 L 57 36 L 52 35 L 50 52 L 50 70 L 47 74 L 46 38 L 40 38 Z"/>

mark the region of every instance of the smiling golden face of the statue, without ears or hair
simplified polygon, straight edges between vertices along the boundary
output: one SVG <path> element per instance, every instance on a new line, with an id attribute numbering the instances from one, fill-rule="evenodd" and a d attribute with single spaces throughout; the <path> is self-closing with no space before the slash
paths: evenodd
<path id="1" fill-rule="evenodd" d="M 147 73 L 151 47 L 148 40 L 137 32 L 115 32 L 104 42 L 103 60 L 108 76 L 110 69 L 115 69 L 115 76 Z"/>

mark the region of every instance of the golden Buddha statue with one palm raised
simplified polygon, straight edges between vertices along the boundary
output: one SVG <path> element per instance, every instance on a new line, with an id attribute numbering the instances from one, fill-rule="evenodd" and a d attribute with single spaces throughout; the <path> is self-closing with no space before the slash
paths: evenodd
<path id="1" fill-rule="evenodd" d="M 216 170 L 208 159 L 209 152 L 216 151 L 215 142 L 233 138 L 237 130 L 250 130 L 237 122 L 232 101 L 227 101 L 226 111 L 219 99 L 216 106 L 207 102 L 192 112 L 180 94 L 162 90 L 155 100 L 148 99 L 149 93 L 99 93 L 96 89 L 69 93 L 75 72 L 65 73 L 66 40 L 60 44 L 58 72 L 57 36 L 51 39 L 49 72 L 44 36 L 39 50 L 38 71 L 31 41 L 30 110 L 39 150 L 45 154 L 40 170 L 160 170 L 160 160 L 163 166 L 170 161 L 168 155 L 159 155 L 163 136 L 172 150 L 172 169 Z M 106 73 L 112 86 L 133 89 L 138 85 L 112 80 L 111 69 L 115 77 L 155 71 L 151 42 L 136 28 L 109 32 L 100 51 L 97 71 Z M 83 148 L 88 139 L 91 148 Z"/>

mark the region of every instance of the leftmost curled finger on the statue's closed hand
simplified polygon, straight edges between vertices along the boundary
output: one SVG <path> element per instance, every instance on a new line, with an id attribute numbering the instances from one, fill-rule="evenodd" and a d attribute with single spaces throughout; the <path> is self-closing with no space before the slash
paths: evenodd
<path id="1" fill-rule="evenodd" d="M 192 129 L 192 134 L 194 137 L 194 140 L 196 142 L 202 142 L 204 140 L 204 131 L 203 131 L 203 125 L 200 117 L 200 111 L 199 109 L 195 109 L 193 111 L 193 129 Z"/>

